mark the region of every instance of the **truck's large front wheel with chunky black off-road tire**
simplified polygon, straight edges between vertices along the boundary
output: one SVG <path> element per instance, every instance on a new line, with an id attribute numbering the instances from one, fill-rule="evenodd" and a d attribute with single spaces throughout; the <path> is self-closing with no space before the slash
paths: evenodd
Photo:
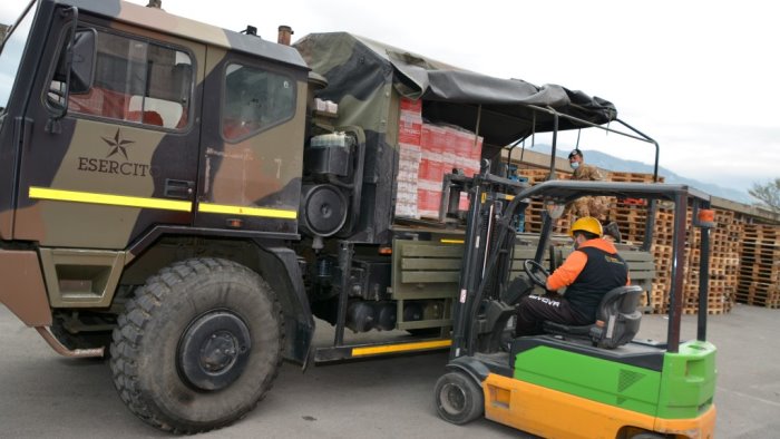
<path id="1" fill-rule="evenodd" d="M 274 292 L 247 267 L 218 258 L 175 263 L 149 277 L 119 316 L 114 383 L 130 411 L 160 430 L 227 426 L 276 378 L 283 321 Z"/>

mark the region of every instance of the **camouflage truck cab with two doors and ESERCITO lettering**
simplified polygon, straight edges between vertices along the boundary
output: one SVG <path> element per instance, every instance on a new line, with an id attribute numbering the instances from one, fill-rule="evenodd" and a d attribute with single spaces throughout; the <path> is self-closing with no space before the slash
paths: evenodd
<path id="1" fill-rule="evenodd" d="M 55 316 L 113 306 L 160 236 L 298 238 L 294 49 L 118 1 L 33 1 L 2 60 L 0 236 L 39 255 Z"/>

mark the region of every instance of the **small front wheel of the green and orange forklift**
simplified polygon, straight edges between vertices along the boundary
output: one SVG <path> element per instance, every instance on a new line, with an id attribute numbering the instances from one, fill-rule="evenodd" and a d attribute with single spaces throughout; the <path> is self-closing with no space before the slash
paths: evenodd
<path id="1" fill-rule="evenodd" d="M 461 425 L 479 418 L 485 411 L 485 394 L 475 380 L 462 372 L 449 372 L 436 382 L 436 409 L 439 416 Z"/>

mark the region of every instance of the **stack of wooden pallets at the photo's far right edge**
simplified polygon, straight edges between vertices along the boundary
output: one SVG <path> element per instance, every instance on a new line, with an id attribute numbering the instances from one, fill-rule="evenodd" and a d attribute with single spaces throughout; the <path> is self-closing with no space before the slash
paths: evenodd
<path id="1" fill-rule="evenodd" d="M 780 308 L 780 228 L 745 224 L 737 301 Z"/>

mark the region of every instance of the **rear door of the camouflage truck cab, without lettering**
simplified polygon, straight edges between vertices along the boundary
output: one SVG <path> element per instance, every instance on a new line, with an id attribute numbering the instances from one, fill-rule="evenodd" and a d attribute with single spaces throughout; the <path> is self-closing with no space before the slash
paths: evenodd
<path id="1" fill-rule="evenodd" d="M 308 69 L 214 47 L 207 57 L 195 224 L 294 237 Z"/>

